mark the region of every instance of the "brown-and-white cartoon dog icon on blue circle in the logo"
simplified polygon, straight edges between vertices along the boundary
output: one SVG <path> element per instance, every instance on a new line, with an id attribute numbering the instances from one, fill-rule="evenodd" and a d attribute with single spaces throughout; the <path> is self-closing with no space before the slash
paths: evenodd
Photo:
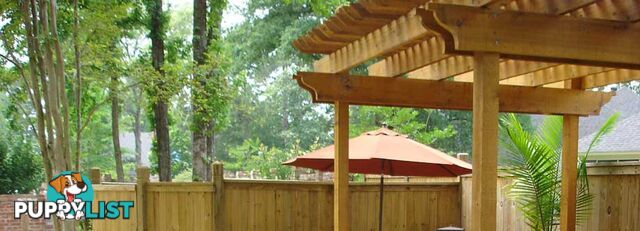
<path id="1" fill-rule="evenodd" d="M 85 204 L 93 201 L 93 187 L 82 174 L 64 171 L 49 181 L 47 200 L 58 204 L 56 216 L 61 220 L 81 220 L 85 218 Z"/>

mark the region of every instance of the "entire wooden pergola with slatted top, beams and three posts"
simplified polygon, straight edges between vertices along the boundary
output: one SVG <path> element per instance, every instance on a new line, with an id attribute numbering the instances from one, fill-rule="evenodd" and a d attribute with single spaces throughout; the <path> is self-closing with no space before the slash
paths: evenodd
<path id="1" fill-rule="evenodd" d="M 561 230 L 575 230 L 578 118 L 640 79 L 639 0 L 360 0 L 293 45 L 335 105 L 334 229 L 349 230 L 349 105 L 473 111 L 471 230 L 496 229 L 498 112 L 564 116 Z M 369 76 L 349 70 L 369 63 Z"/>

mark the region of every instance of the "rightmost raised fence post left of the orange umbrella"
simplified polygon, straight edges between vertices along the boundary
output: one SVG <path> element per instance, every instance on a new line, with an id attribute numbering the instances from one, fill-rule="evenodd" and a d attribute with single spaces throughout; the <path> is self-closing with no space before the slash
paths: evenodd
<path id="1" fill-rule="evenodd" d="M 211 179 L 213 180 L 213 230 L 224 230 L 226 222 L 224 212 L 224 166 L 221 162 L 211 165 Z"/>

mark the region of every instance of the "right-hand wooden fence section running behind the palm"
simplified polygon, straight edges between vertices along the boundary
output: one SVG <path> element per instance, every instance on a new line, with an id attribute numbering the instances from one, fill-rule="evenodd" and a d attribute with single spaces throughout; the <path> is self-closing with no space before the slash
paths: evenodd
<path id="1" fill-rule="evenodd" d="M 578 230 L 640 230 L 640 165 L 607 164 L 588 168 L 593 210 Z M 497 230 L 530 230 L 515 203 L 506 196 L 508 177 L 498 179 Z M 461 178 L 462 223 L 471 225 L 471 176 Z"/>

